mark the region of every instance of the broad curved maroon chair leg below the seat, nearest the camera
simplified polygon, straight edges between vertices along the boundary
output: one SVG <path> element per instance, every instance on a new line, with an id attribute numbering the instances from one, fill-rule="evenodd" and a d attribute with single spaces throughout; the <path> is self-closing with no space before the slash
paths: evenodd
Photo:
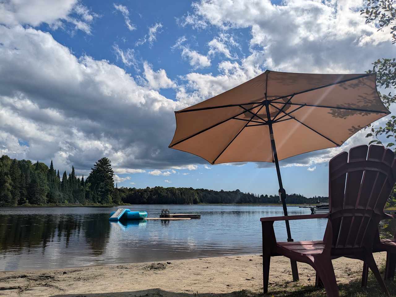
<path id="1" fill-rule="evenodd" d="M 327 297 L 339 297 L 337 281 L 335 280 L 333 263 L 328 257 L 315 259 L 316 278 L 320 279 L 324 288 L 326 289 Z"/>

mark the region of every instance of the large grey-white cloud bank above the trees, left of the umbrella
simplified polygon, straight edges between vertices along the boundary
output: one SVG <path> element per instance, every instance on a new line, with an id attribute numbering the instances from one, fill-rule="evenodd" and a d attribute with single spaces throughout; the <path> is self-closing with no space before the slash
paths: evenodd
<path id="1" fill-rule="evenodd" d="M 40 30 L 0 25 L 0 36 L 0 133 L 14 158 L 52 159 L 77 174 L 103 156 L 116 174 L 185 166 L 186 154 L 164 149 L 183 103 L 108 61 L 76 57 Z"/>

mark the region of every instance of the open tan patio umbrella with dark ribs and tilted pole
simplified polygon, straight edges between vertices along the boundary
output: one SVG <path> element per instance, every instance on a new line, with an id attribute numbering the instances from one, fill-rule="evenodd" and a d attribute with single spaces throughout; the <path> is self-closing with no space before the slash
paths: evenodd
<path id="1" fill-rule="evenodd" d="M 206 101 L 175 112 L 170 148 L 211 164 L 274 162 L 287 215 L 279 160 L 339 147 L 390 112 L 375 74 L 265 71 Z M 286 221 L 287 240 L 293 241 Z"/>

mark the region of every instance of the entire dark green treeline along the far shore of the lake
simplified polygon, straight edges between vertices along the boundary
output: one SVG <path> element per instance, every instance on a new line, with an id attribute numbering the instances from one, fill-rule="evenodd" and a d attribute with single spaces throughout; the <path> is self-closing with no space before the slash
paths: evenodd
<path id="1" fill-rule="evenodd" d="M 98 160 L 91 173 L 77 177 L 74 166 L 62 178 L 53 163 L 0 158 L 0 206 L 29 205 L 121 205 L 121 204 L 198 204 L 198 203 L 279 203 L 277 195 L 257 195 L 235 191 L 193 188 L 125 188 L 114 187 L 114 171 L 107 158 Z M 328 202 L 327 197 L 307 198 L 288 194 L 289 204 Z"/>

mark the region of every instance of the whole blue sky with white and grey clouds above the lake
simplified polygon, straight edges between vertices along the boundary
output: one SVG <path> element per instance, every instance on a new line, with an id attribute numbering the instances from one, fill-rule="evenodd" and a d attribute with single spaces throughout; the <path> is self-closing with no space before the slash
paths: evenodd
<path id="1" fill-rule="evenodd" d="M 168 145 L 174 110 L 266 69 L 362 73 L 394 56 L 363 1 L 13 1 L 0 4 L 0 150 L 88 175 L 103 156 L 118 186 L 275 194 L 272 164 L 211 166 Z M 382 120 L 383 121 L 383 120 Z M 328 194 L 329 159 L 281 162 L 284 187 Z"/>

